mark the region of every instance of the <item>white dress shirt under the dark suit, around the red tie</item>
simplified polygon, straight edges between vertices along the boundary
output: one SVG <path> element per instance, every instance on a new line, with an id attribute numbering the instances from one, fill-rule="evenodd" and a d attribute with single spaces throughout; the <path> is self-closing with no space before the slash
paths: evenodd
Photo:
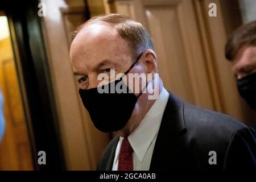
<path id="1" fill-rule="evenodd" d="M 164 109 L 168 101 L 169 93 L 163 88 L 158 99 L 148 110 L 139 126 L 128 136 L 128 140 L 133 148 L 133 169 L 134 171 L 148 171 L 150 169 L 151 158 L 155 146 L 156 137 L 160 123 L 162 121 Z M 119 137 L 113 171 L 118 170 L 118 157 L 123 137 Z"/>

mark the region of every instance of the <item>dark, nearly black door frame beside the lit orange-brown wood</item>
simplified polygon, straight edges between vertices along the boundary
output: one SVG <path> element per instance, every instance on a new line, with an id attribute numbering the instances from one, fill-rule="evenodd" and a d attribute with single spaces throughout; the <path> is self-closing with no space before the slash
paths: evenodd
<path id="1" fill-rule="evenodd" d="M 67 169 L 38 16 L 38 1 L 8 1 L 1 10 L 6 13 L 9 20 L 34 167 L 38 170 Z M 38 164 L 39 151 L 46 151 L 46 165 Z"/>

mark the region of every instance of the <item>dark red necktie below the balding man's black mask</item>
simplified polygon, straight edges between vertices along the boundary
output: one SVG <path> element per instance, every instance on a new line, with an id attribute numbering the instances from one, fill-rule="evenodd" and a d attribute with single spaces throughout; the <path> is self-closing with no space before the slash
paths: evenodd
<path id="1" fill-rule="evenodd" d="M 123 138 L 119 152 L 118 171 L 133 171 L 133 148 L 127 137 Z"/>

